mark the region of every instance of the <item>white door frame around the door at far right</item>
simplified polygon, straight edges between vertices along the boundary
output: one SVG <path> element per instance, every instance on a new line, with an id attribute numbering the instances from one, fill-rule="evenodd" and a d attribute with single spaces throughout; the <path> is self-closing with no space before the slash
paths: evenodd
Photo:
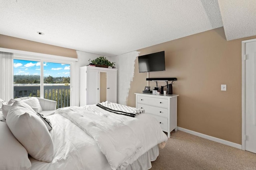
<path id="1" fill-rule="evenodd" d="M 256 39 L 248 39 L 242 41 L 242 150 L 245 150 L 245 43 L 256 41 Z"/>

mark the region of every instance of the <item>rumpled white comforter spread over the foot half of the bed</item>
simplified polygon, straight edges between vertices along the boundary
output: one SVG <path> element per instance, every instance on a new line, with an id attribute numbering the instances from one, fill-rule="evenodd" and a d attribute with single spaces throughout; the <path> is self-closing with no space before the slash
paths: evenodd
<path id="1" fill-rule="evenodd" d="M 96 141 L 112 170 L 125 168 L 148 149 L 167 141 L 158 122 L 146 114 L 138 115 L 144 117 L 138 119 L 110 113 L 96 105 L 64 107 L 56 113 L 72 121 Z M 145 129 L 146 124 L 150 124 L 151 128 Z M 143 148 L 148 141 L 154 144 Z"/>

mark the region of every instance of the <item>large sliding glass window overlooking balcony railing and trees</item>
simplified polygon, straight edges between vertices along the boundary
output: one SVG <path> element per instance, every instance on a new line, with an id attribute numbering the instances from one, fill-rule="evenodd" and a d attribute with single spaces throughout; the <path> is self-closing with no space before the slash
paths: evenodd
<path id="1" fill-rule="evenodd" d="M 70 106 L 70 67 L 72 63 L 14 57 L 14 98 L 34 96 L 57 102 L 57 108 Z"/>

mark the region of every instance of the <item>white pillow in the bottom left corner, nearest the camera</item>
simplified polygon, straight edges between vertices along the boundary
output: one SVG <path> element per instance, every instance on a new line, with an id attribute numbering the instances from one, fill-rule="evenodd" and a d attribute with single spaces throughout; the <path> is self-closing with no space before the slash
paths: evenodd
<path id="1" fill-rule="evenodd" d="M 0 122 L 0 153 L 1 170 L 30 170 L 27 150 L 3 122 Z"/>

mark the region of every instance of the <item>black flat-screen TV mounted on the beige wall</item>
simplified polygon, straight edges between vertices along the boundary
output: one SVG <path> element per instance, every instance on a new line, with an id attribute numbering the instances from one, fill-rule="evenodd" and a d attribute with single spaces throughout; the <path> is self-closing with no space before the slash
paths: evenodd
<path id="1" fill-rule="evenodd" d="M 164 51 L 138 57 L 139 72 L 165 71 Z"/>

